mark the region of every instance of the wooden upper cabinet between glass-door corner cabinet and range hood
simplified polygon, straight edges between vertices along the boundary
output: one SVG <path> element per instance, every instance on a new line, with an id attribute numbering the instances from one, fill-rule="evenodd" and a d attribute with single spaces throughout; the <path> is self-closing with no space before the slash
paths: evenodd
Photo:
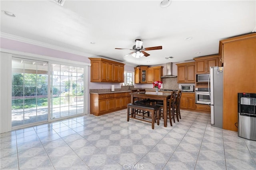
<path id="1" fill-rule="evenodd" d="M 154 81 L 161 81 L 161 76 L 163 75 L 163 66 L 148 67 L 148 83 L 153 83 Z"/>

